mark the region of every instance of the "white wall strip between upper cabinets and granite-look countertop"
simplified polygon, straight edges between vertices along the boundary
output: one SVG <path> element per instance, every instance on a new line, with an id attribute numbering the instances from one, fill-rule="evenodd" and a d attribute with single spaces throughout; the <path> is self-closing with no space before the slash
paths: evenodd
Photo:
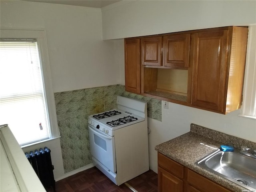
<path id="1" fill-rule="evenodd" d="M 190 131 L 190 124 L 198 124 L 232 136 L 256 142 L 256 120 L 238 116 L 240 110 L 226 115 L 168 103 L 162 108 L 162 122 L 148 119 L 150 169 L 157 172 L 157 152 L 154 147 Z"/>

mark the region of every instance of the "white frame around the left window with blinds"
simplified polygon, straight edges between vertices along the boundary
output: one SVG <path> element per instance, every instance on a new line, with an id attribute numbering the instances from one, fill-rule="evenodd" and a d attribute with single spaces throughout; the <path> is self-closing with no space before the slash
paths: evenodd
<path id="1" fill-rule="evenodd" d="M 38 52 L 40 56 L 40 63 L 42 67 L 42 77 L 44 83 L 46 108 L 49 116 L 49 130 L 50 138 L 34 142 L 31 144 L 23 145 L 22 148 L 45 142 L 48 140 L 60 138 L 60 132 L 58 128 L 56 107 L 54 100 L 54 92 L 52 88 L 52 76 L 50 71 L 50 63 L 48 58 L 46 35 L 44 30 L 23 30 L 23 29 L 0 29 L 1 38 L 10 39 L 36 39 L 38 44 Z"/>

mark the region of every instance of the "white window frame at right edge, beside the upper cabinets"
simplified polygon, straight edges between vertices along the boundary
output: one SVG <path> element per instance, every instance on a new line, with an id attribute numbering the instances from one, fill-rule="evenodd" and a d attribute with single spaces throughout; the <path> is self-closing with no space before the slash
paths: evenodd
<path id="1" fill-rule="evenodd" d="M 244 90 L 239 116 L 256 120 L 256 25 L 249 26 Z"/>

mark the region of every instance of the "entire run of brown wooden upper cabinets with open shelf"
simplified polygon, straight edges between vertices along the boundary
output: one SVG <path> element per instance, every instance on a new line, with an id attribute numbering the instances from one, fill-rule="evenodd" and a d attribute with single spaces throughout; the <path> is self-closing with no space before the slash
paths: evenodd
<path id="1" fill-rule="evenodd" d="M 128 38 L 126 91 L 221 114 L 237 110 L 247 37 L 248 27 L 229 26 Z"/>

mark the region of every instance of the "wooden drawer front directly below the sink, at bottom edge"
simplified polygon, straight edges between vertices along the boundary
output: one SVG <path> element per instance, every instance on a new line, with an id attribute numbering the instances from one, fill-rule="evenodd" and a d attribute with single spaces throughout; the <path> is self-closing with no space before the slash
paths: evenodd
<path id="1" fill-rule="evenodd" d="M 227 190 L 226 188 L 212 182 L 211 180 L 204 178 L 192 170 L 188 170 L 188 183 L 202 192 L 231 192 L 230 190 Z"/>

